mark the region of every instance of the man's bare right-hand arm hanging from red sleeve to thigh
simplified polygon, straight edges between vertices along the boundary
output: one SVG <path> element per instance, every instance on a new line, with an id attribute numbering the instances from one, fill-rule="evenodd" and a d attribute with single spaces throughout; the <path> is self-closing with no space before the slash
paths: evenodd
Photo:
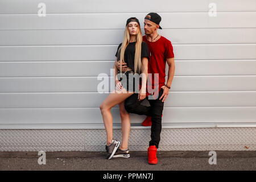
<path id="1" fill-rule="evenodd" d="M 166 61 L 167 61 L 167 64 L 169 66 L 169 69 L 168 69 L 168 79 L 167 79 L 166 85 L 171 87 L 172 79 L 174 78 L 174 72 L 175 72 L 174 57 L 167 58 Z M 164 91 L 163 91 L 162 96 L 159 98 L 159 100 L 161 100 L 162 97 L 163 97 L 163 101 L 162 102 L 164 102 L 166 100 L 167 96 L 168 96 L 168 93 L 169 93 L 170 89 L 167 88 L 166 86 L 162 86 L 162 88 L 164 89 Z"/>

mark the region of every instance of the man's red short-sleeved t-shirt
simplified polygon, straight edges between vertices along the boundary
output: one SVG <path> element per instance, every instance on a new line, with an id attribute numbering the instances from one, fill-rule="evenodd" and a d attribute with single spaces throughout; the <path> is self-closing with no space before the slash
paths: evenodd
<path id="1" fill-rule="evenodd" d="M 163 36 L 156 40 L 156 42 L 148 42 L 144 35 L 143 41 L 147 43 L 148 51 L 150 53 L 150 59 L 148 60 L 148 73 L 151 73 L 152 76 L 148 75 L 148 84 L 152 85 L 152 90 L 159 85 L 159 93 L 161 87 L 165 85 L 166 82 L 166 59 L 174 57 L 174 49 L 171 41 Z M 159 75 L 154 76 L 154 73 L 159 73 Z M 141 84 L 140 79 L 139 90 L 141 90 Z M 152 90 L 148 90 L 148 87 L 151 88 L 151 85 L 148 84 L 146 96 L 149 96 L 152 93 Z M 156 96 L 158 96 L 158 93 L 154 93 L 155 99 Z"/>

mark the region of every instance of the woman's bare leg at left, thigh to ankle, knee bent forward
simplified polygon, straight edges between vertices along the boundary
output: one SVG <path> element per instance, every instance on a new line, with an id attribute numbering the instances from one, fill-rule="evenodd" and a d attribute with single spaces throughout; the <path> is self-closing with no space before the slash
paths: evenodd
<path id="1" fill-rule="evenodd" d="M 132 92 L 129 93 L 129 92 L 126 92 L 126 90 L 125 92 L 121 92 L 121 93 L 118 93 L 116 90 L 114 90 L 101 103 L 100 109 L 101 109 L 101 114 L 104 121 L 105 129 L 106 129 L 107 144 L 112 143 L 112 139 L 113 139 L 113 117 L 110 112 L 110 109 L 115 105 L 125 101 L 126 98 L 130 97 L 132 94 L 133 94 Z"/>

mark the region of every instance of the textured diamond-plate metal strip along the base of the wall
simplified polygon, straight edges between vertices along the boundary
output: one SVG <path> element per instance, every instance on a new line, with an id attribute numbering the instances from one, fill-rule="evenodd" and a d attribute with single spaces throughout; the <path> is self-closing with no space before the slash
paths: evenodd
<path id="1" fill-rule="evenodd" d="M 121 140 L 121 129 L 113 130 Z M 150 129 L 131 129 L 129 148 L 145 151 Z M 91 130 L 0 130 L 0 151 L 105 151 L 106 132 Z M 159 150 L 256 150 L 256 128 L 162 129 Z"/>

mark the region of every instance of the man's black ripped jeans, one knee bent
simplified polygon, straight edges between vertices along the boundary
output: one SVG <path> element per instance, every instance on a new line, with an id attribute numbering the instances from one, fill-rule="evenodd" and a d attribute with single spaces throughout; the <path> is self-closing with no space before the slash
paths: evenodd
<path id="1" fill-rule="evenodd" d="M 146 97 L 145 99 L 150 102 L 150 106 L 141 105 L 143 100 L 138 100 L 138 93 L 134 93 L 125 100 L 125 109 L 127 112 L 151 116 L 152 126 L 149 146 L 156 146 L 156 148 L 158 148 L 158 144 L 160 142 L 160 133 L 162 130 L 162 113 L 164 102 L 162 102 L 163 98 L 159 100 L 162 94 L 163 89 L 161 88 L 156 100 L 148 100 L 148 97 Z"/>

